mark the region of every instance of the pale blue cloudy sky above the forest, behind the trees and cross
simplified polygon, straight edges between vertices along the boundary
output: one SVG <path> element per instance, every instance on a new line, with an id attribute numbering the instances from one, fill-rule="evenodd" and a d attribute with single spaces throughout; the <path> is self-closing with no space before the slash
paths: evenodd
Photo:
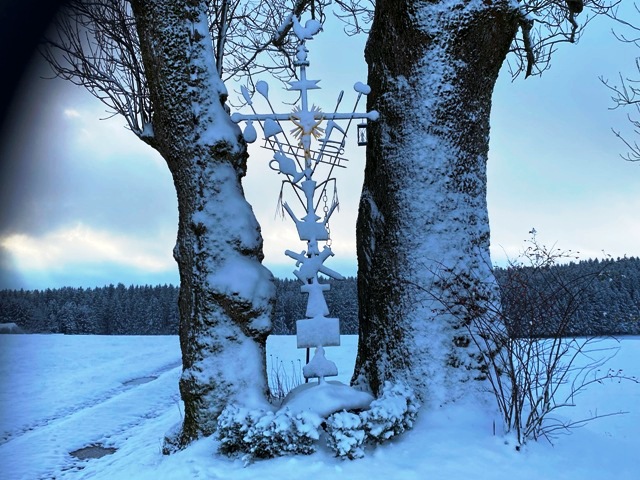
<path id="1" fill-rule="evenodd" d="M 502 72 L 489 154 L 497 263 L 518 254 L 532 227 L 543 242 L 582 258 L 640 256 L 640 164 L 619 157 L 625 147 L 611 128 L 630 138 L 633 130 L 626 112 L 610 110 L 598 79 L 633 76 L 638 50 L 617 42 L 612 27 L 592 23 L 578 45 L 560 47 L 542 78 L 512 83 Z M 355 99 L 352 85 L 366 81 L 363 47 L 363 38 L 332 31 L 310 43 L 310 77 L 323 87 L 312 92 L 314 103 L 332 109 L 340 90 L 343 105 Z M 163 160 L 122 119 L 104 120 L 102 104 L 80 87 L 40 78 L 46 74 L 34 61 L 0 137 L 0 289 L 176 284 L 177 204 Z M 250 153 L 244 185 L 262 225 L 265 263 L 288 276 L 294 265 L 284 250 L 305 245 L 290 221 L 275 215 L 280 178 L 267 166 L 268 153 L 257 144 Z M 352 144 L 346 156 L 349 167 L 337 173 L 340 211 L 331 222 L 336 256 L 327 265 L 354 275 L 364 150 Z"/>

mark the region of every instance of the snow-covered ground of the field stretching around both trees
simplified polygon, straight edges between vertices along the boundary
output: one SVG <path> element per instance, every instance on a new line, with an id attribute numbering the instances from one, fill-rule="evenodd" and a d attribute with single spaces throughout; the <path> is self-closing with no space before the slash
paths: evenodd
<path id="1" fill-rule="evenodd" d="M 640 377 L 640 337 L 625 338 L 606 367 Z M 356 337 L 327 348 L 348 382 Z M 272 337 L 269 369 L 299 375 L 295 337 Z M 282 362 L 282 363 L 280 363 Z M 293 363 L 292 363 L 293 362 Z M 271 368 L 273 367 L 273 368 Z M 605 368 L 606 368 L 605 367 Z M 291 374 L 293 372 L 293 375 Z M 297 373 L 296 373 L 297 372 Z M 362 460 L 340 461 L 324 446 L 308 457 L 243 467 L 203 439 L 178 454 L 160 453 L 180 421 L 177 337 L 0 336 L 0 479 L 446 479 L 636 480 L 640 478 L 640 385 L 595 385 L 564 410 L 568 418 L 627 411 L 556 439 L 515 451 L 493 434 L 496 416 L 475 399 L 422 412 L 413 431 Z M 281 378 L 283 377 L 280 375 Z M 115 452 L 80 460 L 70 454 L 101 444 Z"/>

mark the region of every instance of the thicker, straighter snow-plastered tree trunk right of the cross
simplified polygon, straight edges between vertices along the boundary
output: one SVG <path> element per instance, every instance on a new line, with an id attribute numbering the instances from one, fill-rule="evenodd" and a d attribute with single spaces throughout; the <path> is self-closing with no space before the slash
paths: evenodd
<path id="1" fill-rule="evenodd" d="M 366 58 L 368 108 L 380 120 L 369 125 L 357 223 L 354 373 L 374 393 L 404 380 L 437 406 L 484 376 L 466 325 L 442 310 L 462 287 L 447 280 L 492 278 L 489 115 L 516 9 L 509 0 L 376 2 Z"/>

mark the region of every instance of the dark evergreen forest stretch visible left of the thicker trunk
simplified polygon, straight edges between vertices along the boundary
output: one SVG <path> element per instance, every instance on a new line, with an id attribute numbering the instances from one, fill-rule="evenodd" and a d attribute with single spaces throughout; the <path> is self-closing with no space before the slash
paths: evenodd
<path id="1" fill-rule="evenodd" d="M 355 278 L 329 283 L 331 315 L 340 318 L 342 333 L 357 333 Z M 305 318 L 306 294 L 298 280 L 276 279 L 276 290 L 273 332 L 293 334 L 296 320 Z M 177 335 L 178 317 L 173 285 L 0 291 L 0 323 L 28 333 Z"/>

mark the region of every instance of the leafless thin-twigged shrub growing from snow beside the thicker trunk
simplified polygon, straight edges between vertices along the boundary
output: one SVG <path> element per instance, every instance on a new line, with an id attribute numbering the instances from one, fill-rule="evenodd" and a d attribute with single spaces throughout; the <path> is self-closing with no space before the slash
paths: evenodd
<path id="1" fill-rule="evenodd" d="M 499 284 L 493 276 L 470 278 L 445 266 L 437 272 L 447 292 L 446 298 L 436 298 L 441 312 L 459 318 L 479 348 L 505 433 L 514 434 L 518 446 L 540 438 L 553 442 L 573 427 L 624 413 L 573 421 L 554 415 L 574 406 L 576 397 L 595 383 L 638 382 L 621 370 L 602 368 L 618 348 L 606 347 L 603 337 L 575 336 L 571 328 L 589 285 L 606 274 L 607 264 L 573 277 L 559 275 L 551 267 L 576 254 L 548 248 L 535 230 L 530 234 Z"/>

